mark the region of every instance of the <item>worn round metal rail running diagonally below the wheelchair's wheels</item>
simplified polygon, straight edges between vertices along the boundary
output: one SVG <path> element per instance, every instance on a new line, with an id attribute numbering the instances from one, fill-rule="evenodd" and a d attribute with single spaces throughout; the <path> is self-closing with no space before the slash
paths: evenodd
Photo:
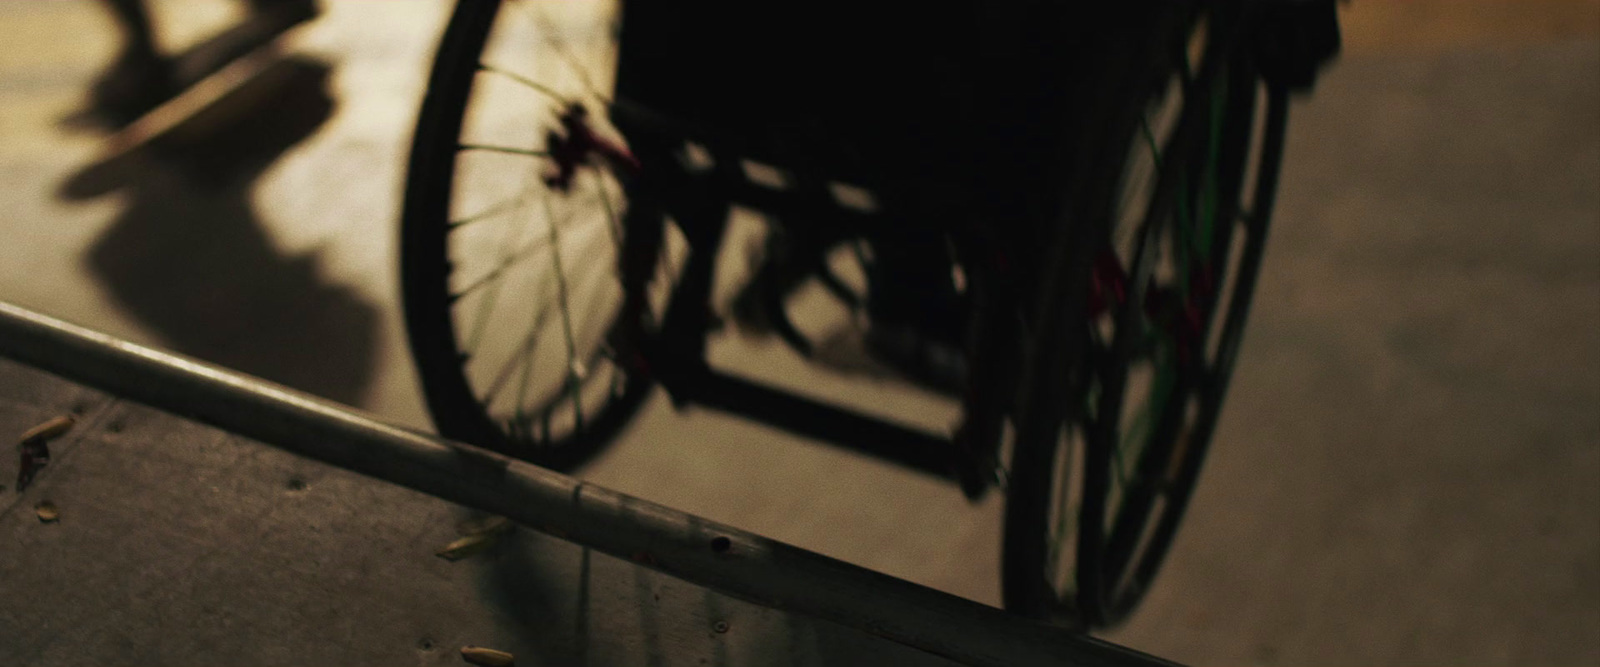
<path id="1" fill-rule="evenodd" d="M 960 662 L 1170 664 L 6 302 L 0 355 L 726 595 Z"/>

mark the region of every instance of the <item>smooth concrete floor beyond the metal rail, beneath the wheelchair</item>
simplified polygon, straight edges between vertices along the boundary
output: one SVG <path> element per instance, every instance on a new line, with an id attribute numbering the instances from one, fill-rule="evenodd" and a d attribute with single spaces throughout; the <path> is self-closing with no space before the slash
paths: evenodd
<path id="1" fill-rule="evenodd" d="M 155 6 L 171 45 L 232 11 Z M 99 139 L 59 130 L 114 48 L 94 3 L 0 5 L 0 298 L 427 425 L 394 229 L 448 3 L 326 10 L 301 45 L 333 64 L 326 120 L 197 186 L 106 176 Z M 1107 637 L 1195 664 L 1597 664 L 1600 3 L 1349 11 L 1347 56 L 1291 118 L 1189 523 Z M 765 427 L 658 397 L 584 477 L 998 601 L 995 499 Z"/>

